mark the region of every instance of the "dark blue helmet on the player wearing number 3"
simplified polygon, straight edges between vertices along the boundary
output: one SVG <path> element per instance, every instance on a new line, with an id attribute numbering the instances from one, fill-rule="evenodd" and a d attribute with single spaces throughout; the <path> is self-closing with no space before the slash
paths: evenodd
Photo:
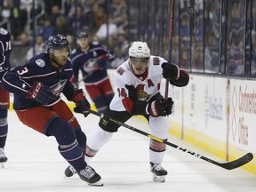
<path id="1" fill-rule="evenodd" d="M 68 43 L 68 40 L 65 36 L 57 34 L 53 36 L 49 36 L 48 40 L 45 42 L 47 51 L 49 49 L 58 49 L 67 47 L 70 50 L 70 45 Z"/>

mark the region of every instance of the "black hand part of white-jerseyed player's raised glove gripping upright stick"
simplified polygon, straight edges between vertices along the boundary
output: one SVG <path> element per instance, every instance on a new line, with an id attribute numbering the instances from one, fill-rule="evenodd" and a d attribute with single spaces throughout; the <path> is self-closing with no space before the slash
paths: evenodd
<path id="1" fill-rule="evenodd" d="M 180 77 L 180 68 L 177 65 L 168 64 L 164 62 L 162 64 L 163 76 L 165 79 L 179 79 Z"/>

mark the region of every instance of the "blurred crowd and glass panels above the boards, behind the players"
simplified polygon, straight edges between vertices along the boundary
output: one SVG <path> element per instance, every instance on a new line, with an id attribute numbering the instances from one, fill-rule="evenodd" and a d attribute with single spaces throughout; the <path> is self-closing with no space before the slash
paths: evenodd
<path id="1" fill-rule="evenodd" d="M 256 76 L 256 0 L 177 0 L 172 62 L 191 73 Z M 168 59 L 172 0 L 0 0 L 0 26 L 12 33 L 12 67 L 23 65 L 52 34 L 86 29 L 92 41 L 116 53 L 108 68 L 127 59 L 132 41 L 146 41 Z"/>

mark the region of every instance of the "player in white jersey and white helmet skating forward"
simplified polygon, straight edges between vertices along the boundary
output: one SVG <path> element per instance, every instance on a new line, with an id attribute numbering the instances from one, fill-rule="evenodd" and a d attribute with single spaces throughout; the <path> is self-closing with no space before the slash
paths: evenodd
<path id="1" fill-rule="evenodd" d="M 164 78 L 170 84 L 186 86 L 188 73 L 176 65 L 167 63 L 164 58 L 150 55 L 148 44 L 133 42 L 129 49 L 129 59 L 116 69 L 114 80 L 117 92 L 104 115 L 125 123 L 132 116 L 145 116 L 148 120 L 151 134 L 167 140 L 170 124 L 167 116 L 172 114 L 172 98 L 164 100 L 160 94 L 160 84 Z M 100 119 L 97 127 L 89 133 L 86 142 L 85 160 L 87 163 L 111 139 L 120 125 Z M 166 144 L 150 139 L 149 165 L 153 180 L 164 182 L 167 171 L 162 167 Z M 69 166 L 65 175 L 72 176 Z"/>

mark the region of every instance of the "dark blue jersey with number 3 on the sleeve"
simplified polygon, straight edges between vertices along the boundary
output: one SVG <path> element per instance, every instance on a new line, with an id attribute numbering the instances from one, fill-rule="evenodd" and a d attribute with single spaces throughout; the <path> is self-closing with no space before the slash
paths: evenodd
<path id="1" fill-rule="evenodd" d="M 28 90 L 36 81 L 51 88 L 58 97 L 53 100 L 52 106 L 60 100 L 60 93 L 71 99 L 75 92 L 73 84 L 69 81 L 72 76 L 72 65 L 68 59 L 62 68 L 54 68 L 51 65 L 49 54 L 42 52 L 27 61 L 24 66 L 12 68 L 3 76 L 4 89 L 14 94 L 14 109 L 26 109 L 40 105 L 36 100 L 27 99 Z"/>

